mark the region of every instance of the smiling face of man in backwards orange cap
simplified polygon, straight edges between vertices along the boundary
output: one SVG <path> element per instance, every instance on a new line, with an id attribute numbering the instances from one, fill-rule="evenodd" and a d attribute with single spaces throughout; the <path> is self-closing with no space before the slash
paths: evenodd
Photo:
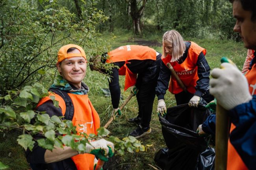
<path id="1" fill-rule="evenodd" d="M 78 49 L 74 49 L 70 53 L 80 53 Z M 83 57 L 71 57 L 66 58 L 57 64 L 59 73 L 62 77 L 67 80 L 70 84 L 77 88 L 81 87 L 81 82 L 85 77 L 86 73 L 86 60 Z"/>

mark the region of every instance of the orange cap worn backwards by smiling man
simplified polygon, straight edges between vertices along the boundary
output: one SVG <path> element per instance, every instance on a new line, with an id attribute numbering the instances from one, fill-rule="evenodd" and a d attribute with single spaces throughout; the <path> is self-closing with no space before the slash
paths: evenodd
<path id="1" fill-rule="evenodd" d="M 81 53 L 69 53 L 67 54 L 67 51 L 69 48 L 77 48 Z M 83 51 L 82 47 L 76 45 L 76 44 L 68 44 L 59 49 L 58 52 L 58 61 L 57 63 L 61 62 L 65 58 L 70 58 L 70 57 L 83 57 L 86 60 L 86 55 L 85 52 Z"/>

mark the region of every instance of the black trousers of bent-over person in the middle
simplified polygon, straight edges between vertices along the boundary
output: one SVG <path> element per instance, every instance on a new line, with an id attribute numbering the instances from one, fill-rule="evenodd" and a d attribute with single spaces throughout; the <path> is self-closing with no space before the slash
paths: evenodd
<path id="1" fill-rule="evenodd" d="M 161 55 L 157 57 L 152 66 L 149 66 L 145 72 L 137 76 L 136 87 L 139 90 L 136 95 L 139 106 L 138 117 L 141 118 L 141 126 L 143 127 L 148 127 L 151 121 L 160 63 Z"/>

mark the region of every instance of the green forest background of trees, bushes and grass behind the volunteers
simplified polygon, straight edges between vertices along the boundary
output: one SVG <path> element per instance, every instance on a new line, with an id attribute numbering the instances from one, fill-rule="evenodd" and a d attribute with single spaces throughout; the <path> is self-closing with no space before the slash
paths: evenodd
<path id="1" fill-rule="evenodd" d="M 55 64 L 61 46 L 79 44 L 88 58 L 128 44 L 162 52 L 163 33 L 175 29 L 184 40 L 207 49 L 211 68 L 219 67 L 220 58 L 226 56 L 241 69 L 247 50 L 233 32 L 234 24 L 228 0 L 0 0 L 0 169 L 30 169 L 22 148 L 33 145 L 32 137 L 22 135 L 27 130 L 48 132 L 49 141 L 44 144 L 56 144 L 51 143 L 57 139 L 49 135 L 45 119 L 40 119 L 44 126 L 32 127 L 28 122 L 41 93 L 47 92 L 58 75 Z M 84 82 L 103 126 L 112 109 L 110 97 L 102 91 L 108 88 L 108 80 L 88 67 Z M 120 84 L 123 90 L 124 77 Z M 122 92 L 123 99 L 128 95 Z M 154 154 L 165 142 L 156 101 L 152 133 L 139 139 L 150 147 L 146 152 L 117 153 L 104 165 L 105 170 L 159 169 Z M 165 101 L 167 107 L 176 104 L 169 92 Z M 109 126 L 111 135 L 128 136 L 135 126 L 127 119 L 137 112 L 134 97 Z"/>

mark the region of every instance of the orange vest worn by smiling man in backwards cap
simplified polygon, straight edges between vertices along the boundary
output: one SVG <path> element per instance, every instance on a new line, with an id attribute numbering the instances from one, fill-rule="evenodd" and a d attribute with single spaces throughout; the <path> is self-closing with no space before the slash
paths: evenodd
<path id="1" fill-rule="evenodd" d="M 49 96 L 54 95 L 55 100 L 59 102 L 59 107 L 64 116 L 66 111 L 66 104 L 61 96 L 52 94 L 49 92 Z M 100 117 L 95 108 L 91 104 L 88 95 L 76 95 L 68 93 L 74 105 L 74 117 L 72 119 L 73 125 L 76 126 L 77 132 L 84 132 L 86 134 L 97 133 L 97 129 L 100 127 Z M 50 97 L 44 97 L 37 107 L 46 101 L 51 100 Z M 74 161 L 78 170 L 93 170 L 95 155 L 92 154 L 78 154 L 71 159 Z"/>

